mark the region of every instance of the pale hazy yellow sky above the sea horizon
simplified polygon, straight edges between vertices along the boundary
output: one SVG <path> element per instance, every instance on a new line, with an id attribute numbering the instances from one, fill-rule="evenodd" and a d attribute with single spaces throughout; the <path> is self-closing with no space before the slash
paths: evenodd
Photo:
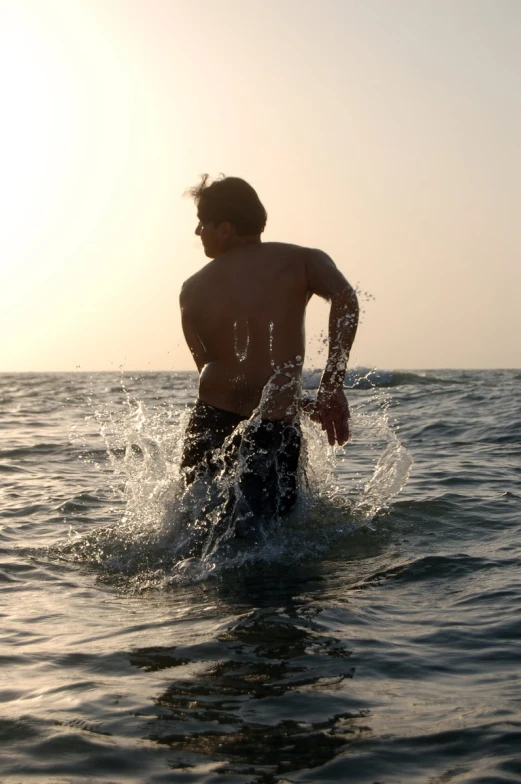
<path id="1" fill-rule="evenodd" d="M 0 0 L 0 372 L 193 369 L 203 172 L 357 288 L 352 366 L 521 367 L 520 40 L 519 0 Z"/>

